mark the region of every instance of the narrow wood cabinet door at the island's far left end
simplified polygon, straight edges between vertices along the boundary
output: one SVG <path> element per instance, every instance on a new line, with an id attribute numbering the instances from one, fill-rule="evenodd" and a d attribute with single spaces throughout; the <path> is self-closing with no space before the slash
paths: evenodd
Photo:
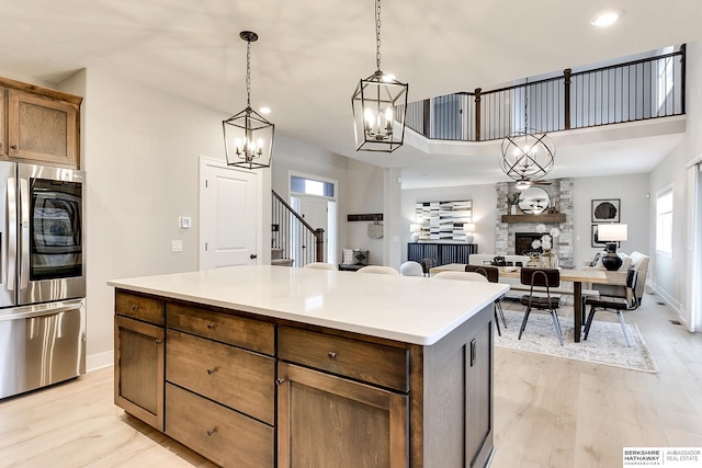
<path id="1" fill-rule="evenodd" d="M 114 319 L 114 402 L 163 431 L 165 329 L 138 320 Z"/>

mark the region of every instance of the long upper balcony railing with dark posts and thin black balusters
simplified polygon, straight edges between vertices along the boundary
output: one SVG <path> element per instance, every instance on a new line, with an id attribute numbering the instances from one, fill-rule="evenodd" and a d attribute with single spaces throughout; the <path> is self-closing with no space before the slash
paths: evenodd
<path id="1" fill-rule="evenodd" d="M 485 141 L 684 114 L 684 45 L 677 52 L 409 103 L 407 126 L 431 139 Z"/>

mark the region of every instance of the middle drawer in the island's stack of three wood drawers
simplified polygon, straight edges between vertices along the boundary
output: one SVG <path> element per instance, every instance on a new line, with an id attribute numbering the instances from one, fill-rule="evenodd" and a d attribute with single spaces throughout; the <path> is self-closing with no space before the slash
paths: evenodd
<path id="1" fill-rule="evenodd" d="M 166 343 L 166 380 L 273 424 L 273 357 L 176 330 L 167 331 Z"/>

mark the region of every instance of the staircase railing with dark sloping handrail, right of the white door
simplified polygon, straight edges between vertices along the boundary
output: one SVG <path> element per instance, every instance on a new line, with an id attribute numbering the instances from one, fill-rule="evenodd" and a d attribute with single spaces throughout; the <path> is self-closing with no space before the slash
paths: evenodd
<path id="1" fill-rule="evenodd" d="M 272 197 L 272 248 L 280 249 L 282 259 L 294 266 L 325 261 L 325 230 L 314 228 L 275 191 Z"/>

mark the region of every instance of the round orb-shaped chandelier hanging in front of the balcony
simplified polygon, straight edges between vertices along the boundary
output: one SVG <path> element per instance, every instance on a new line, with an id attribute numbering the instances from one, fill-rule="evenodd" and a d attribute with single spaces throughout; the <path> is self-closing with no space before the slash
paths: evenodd
<path id="1" fill-rule="evenodd" d="M 524 85 L 524 129 L 505 137 L 500 148 L 500 167 L 514 180 L 518 190 L 541 182 L 553 169 L 556 153 L 556 146 L 545 132 L 529 127 L 526 93 Z"/>

